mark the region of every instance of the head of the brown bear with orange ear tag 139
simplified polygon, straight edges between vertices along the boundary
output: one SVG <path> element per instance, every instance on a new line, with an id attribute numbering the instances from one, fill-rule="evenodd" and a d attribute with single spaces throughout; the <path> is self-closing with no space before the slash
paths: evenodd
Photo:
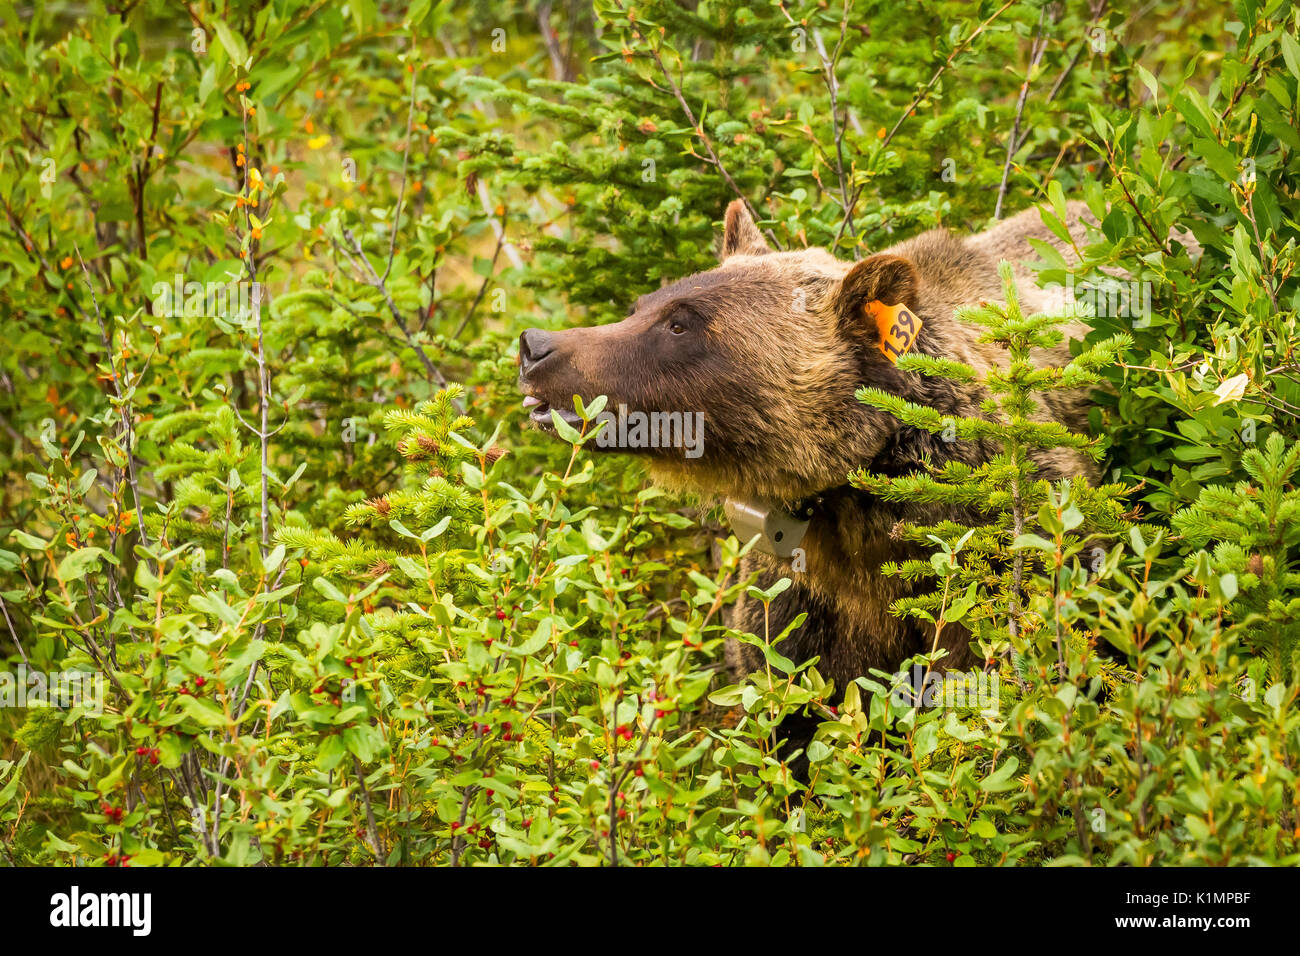
<path id="1" fill-rule="evenodd" d="M 881 303 L 924 319 L 913 261 L 774 251 L 737 200 L 716 268 L 642 295 L 618 323 L 528 329 L 519 385 L 545 431 L 552 408 L 580 424 L 573 395 L 607 395 L 606 433 L 588 447 L 645 455 L 660 485 L 793 502 L 845 484 L 898 431 L 854 398 L 863 384 L 902 394 L 919 378 L 881 349 Z M 914 347 L 933 352 L 928 326 Z"/>

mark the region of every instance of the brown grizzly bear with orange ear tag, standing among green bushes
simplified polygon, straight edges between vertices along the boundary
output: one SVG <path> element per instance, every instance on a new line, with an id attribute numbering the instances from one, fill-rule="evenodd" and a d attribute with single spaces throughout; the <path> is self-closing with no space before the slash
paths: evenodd
<path id="1" fill-rule="evenodd" d="M 1086 216 L 1082 203 L 1070 204 L 1066 225 L 1076 241 L 1083 239 Z M 997 451 L 904 427 L 854 398 L 861 385 L 871 385 L 945 415 L 985 414 L 980 388 L 901 371 L 881 347 L 889 332 L 883 333 L 874 316 L 881 303 L 909 310 L 919 320 L 907 343 L 916 352 L 978 369 L 1004 362 L 996 346 L 979 342 L 979 326 L 953 312 L 1004 298 L 997 273 L 1002 259 L 1013 264 L 1026 313 L 1060 311 L 1060 299 L 1040 289 L 1026 265 L 1037 259 L 1030 238 L 1071 258 L 1071 247 L 1030 209 L 978 235 L 958 238 L 935 229 L 848 263 L 822 248 L 771 250 L 737 200 L 727 209 L 718 268 L 642 295 L 619 323 L 524 332 L 524 403 L 533 423 L 551 429 L 551 408 L 577 424 L 573 395 L 607 395 L 607 410 L 624 420 L 640 415 L 634 425 L 641 428 L 611 421 L 607 431 L 621 428 L 620 436 L 638 440 L 601 445 L 644 454 L 658 484 L 727 499 L 741 511 L 807 519 L 793 555 L 770 546 L 751 549 L 744 559 L 742 572 L 757 574 L 760 588 L 780 578 L 793 581 L 772 602 L 766 628 L 763 607 L 750 597 L 737 602 L 731 624 L 775 636 L 806 611 L 779 650 L 796 662 L 819 658 L 818 671 L 842 691 L 871 669 L 894 672 L 909 657 L 930 650 L 932 626 L 889 613 L 910 585 L 881 575 L 880 566 L 920 555 L 897 538 L 900 522 L 942 516 L 881 501 L 850 486 L 848 475 L 858 468 L 905 475 L 954 458 L 975 464 Z M 1067 349 L 1037 358 L 1063 364 Z M 1087 406 L 1079 395 L 1053 393 L 1040 414 L 1080 431 Z M 702 428 L 698 442 L 684 449 L 682 441 L 671 441 L 673 427 L 682 425 L 676 436 L 681 438 L 694 420 Z M 653 441 L 660 437 L 666 440 Z M 1036 464 L 1045 479 L 1092 477 L 1091 462 L 1072 451 L 1040 453 Z M 734 510 L 728 506 L 728 514 Z M 970 635 L 961 627 L 946 627 L 940 646 L 946 669 L 975 663 Z M 763 663 L 757 648 L 737 641 L 729 643 L 727 658 L 737 679 Z M 806 721 L 783 727 L 789 731 L 786 750 L 806 745 L 812 726 Z"/>

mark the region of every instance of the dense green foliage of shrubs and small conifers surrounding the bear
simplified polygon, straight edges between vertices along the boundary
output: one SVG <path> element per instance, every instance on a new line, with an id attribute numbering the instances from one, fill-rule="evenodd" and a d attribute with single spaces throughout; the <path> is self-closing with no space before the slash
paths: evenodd
<path id="1" fill-rule="evenodd" d="M 0 657 L 105 675 L 101 710 L 0 710 L 0 860 L 1300 861 L 1292 4 L 0 20 Z M 1026 360 L 1054 317 L 963 315 L 1011 356 L 987 420 L 863 384 L 1001 450 L 854 476 L 983 516 L 890 568 L 988 658 L 935 706 L 885 674 L 832 706 L 728 631 L 746 542 L 707 502 L 519 411 L 523 328 L 710 267 L 737 196 L 841 258 L 1076 196 L 1100 225 L 1041 281 L 1124 276 L 1060 372 Z M 1091 436 L 1034 420 L 1080 386 Z M 1105 483 L 1036 480 L 1044 447 Z M 731 684 L 728 635 L 767 669 Z"/>

